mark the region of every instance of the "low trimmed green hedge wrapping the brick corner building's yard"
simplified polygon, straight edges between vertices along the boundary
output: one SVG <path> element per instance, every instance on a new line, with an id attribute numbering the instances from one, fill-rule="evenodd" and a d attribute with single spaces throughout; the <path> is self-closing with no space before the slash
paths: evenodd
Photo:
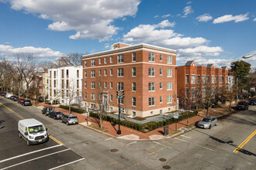
<path id="1" fill-rule="evenodd" d="M 188 112 L 188 114 L 184 113 L 178 117 L 178 121 L 183 121 L 187 119 L 187 117 L 194 117 L 197 114 L 198 114 L 197 111 Z M 95 117 L 99 119 L 99 115 L 92 112 L 90 112 L 90 117 Z M 109 117 L 107 115 L 103 115 L 102 120 L 109 121 L 114 124 L 118 124 L 118 119 L 114 117 Z M 137 131 L 144 131 L 144 129 L 147 129 L 148 131 L 154 131 L 157 128 L 162 128 L 165 125 L 174 124 L 175 122 L 176 122 L 175 118 L 171 118 L 171 119 L 167 119 L 165 121 L 159 121 L 159 122 L 151 121 L 151 122 L 148 122 L 147 124 L 137 124 L 131 121 L 120 121 L 120 124 L 128 128 L 133 128 Z"/>

